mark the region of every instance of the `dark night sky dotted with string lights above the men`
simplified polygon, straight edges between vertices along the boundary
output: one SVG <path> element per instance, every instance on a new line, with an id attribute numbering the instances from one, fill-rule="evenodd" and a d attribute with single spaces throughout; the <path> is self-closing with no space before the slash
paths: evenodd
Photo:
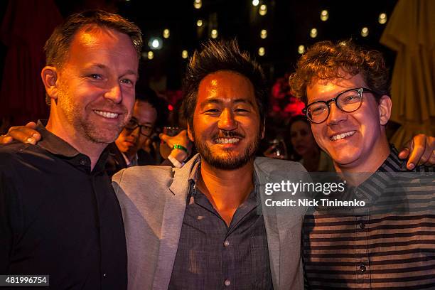
<path id="1" fill-rule="evenodd" d="M 66 16 L 83 7 L 106 5 L 138 24 L 144 33 L 144 43 L 159 36 L 163 48 L 154 51 L 153 60 L 142 60 L 142 80 L 167 76 L 168 89 L 180 87 L 181 76 L 187 60 L 181 58 L 181 51 L 189 55 L 202 41 L 210 36 L 211 28 L 217 28 L 220 38 L 237 37 L 243 49 L 256 55 L 269 79 L 284 75 L 294 68 L 299 45 L 311 45 L 316 41 L 353 38 L 368 48 L 382 50 L 387 63 L 392 66 L 394 53 L 380 45 L 379 39 L 385 24 L 378 23 L 380 13 L 391 15 L 397 0 L 275 0 L 259 1 L 267 5 L 267 14 L 258 14 L 259 6 L 252 0 L 203 0 L 200 9 L 195 9 L 193 0 L 183 1 L 56 1 L 61 13 Z M 328 10 L 328 21 L 321 21 L 323 9 Z M 201 18 L 205 25 L 198 33 L 196 21 Z M 215 20 L 215 21 L 213 21 Z M 369 36 L 360 36 L 361 29 L 369 28 Z M 162 37 L 164 28 L 170 30 L 168 39 Z M 309 31 L 317 28 L 318 36 L 311 38 Z M 260 31 L 267 29 L 267 38 L 260 38 Z M 257 54 L 259 47 L 266 54 Z M 144 51 L 148 51 L 147 45 Z"/>

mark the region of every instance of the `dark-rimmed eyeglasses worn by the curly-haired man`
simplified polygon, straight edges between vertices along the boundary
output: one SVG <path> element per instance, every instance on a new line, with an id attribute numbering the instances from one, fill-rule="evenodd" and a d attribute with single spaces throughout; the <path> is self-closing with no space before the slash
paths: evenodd
<path id="1" fill-rule="evenodd" d="M 355 112 L 357 109 L 360 109 L 361 104 L 363 104 L 364 92 L 370 92 L 373 95 L 377 95 L 376 92 L 364 87 L 360 87 L 359 89 L 345 90 L 344 92 L 340 92 L 337 97 L 334 97 L 331 100 L 317 101 L 308 104 L 308 106 L 303 109 L 302 112 L 306 114 L 306 117 L 308 120 L 310 120 L 310 122 L 320 124 L 328 119 L 329 113 L 331 112 L 331 102 L 335 102 L 335 105 L 338 107 L 338 109 L 346 113 Z"/>

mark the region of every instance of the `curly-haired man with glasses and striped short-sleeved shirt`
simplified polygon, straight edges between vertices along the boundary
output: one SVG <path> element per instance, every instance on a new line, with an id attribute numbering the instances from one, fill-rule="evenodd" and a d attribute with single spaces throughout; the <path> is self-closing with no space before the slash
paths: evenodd
<path id="1" fill-rule="evenodd" d="M 331 216 L 331 208 L 326 215 L 316 208 L 306 215 L 302 243 L 308 288 L 433 288 L 435 215 L 429 206 L 413 208 L 421 200 L 434 202 L 433 186 L 392 178 L 407 168 L 385 133 L 392 101 L 382 54 L 351 41 L 316 43 L 301 57 L 289 82 L 306 104 L 318 145 L 331 156 L 335 170 L 353 183 L 348 193 L 373 205 L 363 214 Z M 414 166 L 413 171 L 434 167 Z M 407 202 L 405 213 L 388 210 L 397 202 L 398 184 L 419 192 L 420 203 L 409 199 L 415 195 L 400 196 L 399 201 Z M 387 206 L 375 212 L 381 203 Z"/>

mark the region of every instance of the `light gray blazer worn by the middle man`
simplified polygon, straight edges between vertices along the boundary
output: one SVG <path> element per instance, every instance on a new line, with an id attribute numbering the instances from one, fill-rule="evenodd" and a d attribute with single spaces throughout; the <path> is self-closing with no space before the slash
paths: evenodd
<path id="1" fill-rule="evenodd" d="M 112 179 L 127 238 L 129 289 L 168 289 L 183 224 L 188 177 L 199 156 L 183 168 L 134 166 Z M 264 184 L 304 179 L 300 163 L 259 157 L 254 168 L 259 195 Z M 262 202 L 274 289 L 303 289 L 300 245 L 304 208 L 281 213 Z M 278 213 L 279 211 L 279 213 Z"/>

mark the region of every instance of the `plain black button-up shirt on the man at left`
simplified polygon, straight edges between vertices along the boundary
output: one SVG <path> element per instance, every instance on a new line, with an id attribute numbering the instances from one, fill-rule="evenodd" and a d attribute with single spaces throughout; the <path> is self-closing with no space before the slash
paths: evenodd
<path id="1" fill-rule="evenodd" d="M 0 147 L 0 274 L 48 274 L 44 289 L 126 289 L 121 209 L 104 171 L 43 127 Z M 29 287 L 33 289 L 32 287 Z"/>

